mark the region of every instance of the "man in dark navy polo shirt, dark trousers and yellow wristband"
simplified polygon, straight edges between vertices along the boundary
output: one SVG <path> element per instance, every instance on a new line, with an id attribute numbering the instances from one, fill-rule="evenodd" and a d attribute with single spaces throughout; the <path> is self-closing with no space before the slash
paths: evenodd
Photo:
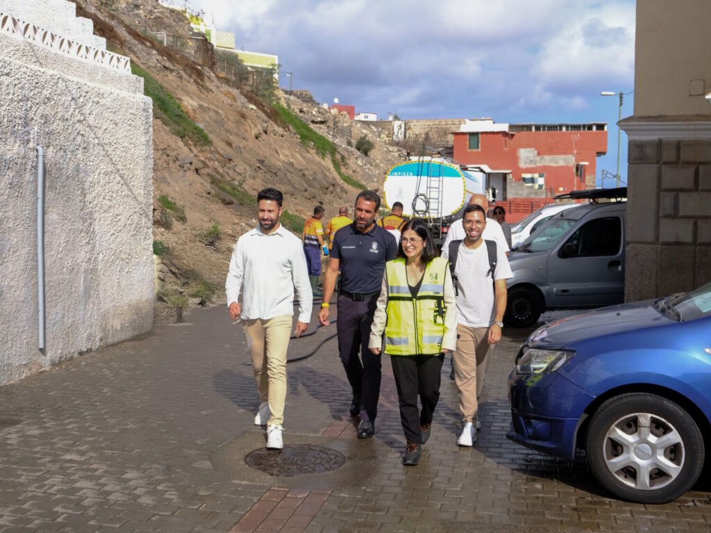
<path id="1" fill-rule="evenodd" d="M 395 237 L 375 224 L 379 208 L 380 196 L 373 191 L 362 191 L 355 198 L 355 220 L 338 230 L 333 238 L 324 280 L 324 303 L 319 312 L 321 324 L 330 324 L 328 301 L 340 269 L 341 294 L 338 295 L 336 321 L 338 352 L 353 389 L 351 415 L 360 413 L 358 438 L 370 438 L 375 434 L 380 356 L 370 352 L 368 339 L 383 283 L 385 261 L 394 259 L 397 253 Z"/>

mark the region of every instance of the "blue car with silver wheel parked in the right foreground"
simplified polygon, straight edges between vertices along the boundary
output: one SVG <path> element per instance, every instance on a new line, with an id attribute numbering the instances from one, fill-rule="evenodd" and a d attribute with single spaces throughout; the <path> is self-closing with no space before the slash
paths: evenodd
<path id="1" fill-rule="evenodd" d="M 509 376 L 507 437 L 574 458 L 616 497 L 669 502 L 711 445 L 711 283 L 537 329 Z"/>

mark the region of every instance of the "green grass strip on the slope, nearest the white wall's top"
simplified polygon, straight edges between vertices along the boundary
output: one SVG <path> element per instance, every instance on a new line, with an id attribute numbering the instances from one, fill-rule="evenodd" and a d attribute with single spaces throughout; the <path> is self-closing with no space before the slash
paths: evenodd
<path id="1" fill-rule="evenodd" d="M 151 76 L 147 70 L 139 67 L 135 61 L 131 62 L 131 71 L 134 75 L 141 76 L 144 79 L 143 92 L 153 100 L 153 115 L 169 127 L 171 133 L 176 134 L 181 139 L 187 137 L 203 146 L 212 144 L 205 130 L 190 120 L 180 102 L 165 90 L 156 78 Z"/>

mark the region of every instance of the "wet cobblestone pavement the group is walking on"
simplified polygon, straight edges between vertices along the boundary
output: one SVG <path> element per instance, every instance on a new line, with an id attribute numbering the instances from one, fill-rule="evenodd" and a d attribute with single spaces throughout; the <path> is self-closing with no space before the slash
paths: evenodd
<path id="1" fill-rule="evenodd" d="M 252 425 L 258 398 L 241 328 L 223 307 L 185 320 L 0 389 L 0 532 L 711 530 L 708 487 L 668 505 L 621 502 L 591 479 L 583 457 L 557 460 L 506 440 L 507 376 L 528 331 L 505 329 L 474 448 L 456 446 L 445 364 L 415 468 L 400 463 L 389 359 L 376 437 L 362 441 L 345 416 L 335 325 L 292 341 L 291 359 L 319 349 L 289 364 L 287 449 L 321 447 L 345 463 L 287 477 L 245 463 L 264 436 Z"/>

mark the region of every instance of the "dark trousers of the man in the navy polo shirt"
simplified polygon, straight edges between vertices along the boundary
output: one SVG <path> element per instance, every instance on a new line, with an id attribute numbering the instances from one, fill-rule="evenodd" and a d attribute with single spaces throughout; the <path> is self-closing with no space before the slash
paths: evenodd
<path id="1" fill-rule="evenodd" d="M 377 294 L 360 302 L 339 295 L 336 319 L 338 353 L 346 369 L 348 383 L 353 391 L 360 394 L 360 418 L 371 422 L 375 422 L 378 415 L 380 397 L 380 356 L 368 349 L 370 326 L 377 304 Z"/>

